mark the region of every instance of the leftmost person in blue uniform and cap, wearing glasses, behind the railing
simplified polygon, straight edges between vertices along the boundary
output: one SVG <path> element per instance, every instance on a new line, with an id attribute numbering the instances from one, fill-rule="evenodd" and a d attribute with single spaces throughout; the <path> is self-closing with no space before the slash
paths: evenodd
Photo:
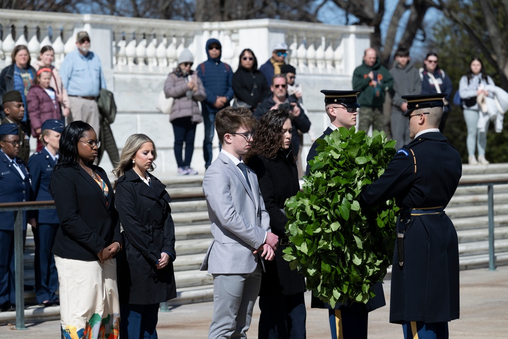
<path id="1" fill-rule="evenodd" d="M 29 201 L 30 178 L 24 162 L 17 157 L 20 148 L 18 126 L 0 125 L 0 203 Z M 0 212 L 0 312 L 13 311 L 14 292 L 14 212 Z M 29 220 L 35 224 L 35 220 Z M 26 235 L 26 212 L 23 212 Z M 23 236 L 24 238 L 24 236 Z"/>

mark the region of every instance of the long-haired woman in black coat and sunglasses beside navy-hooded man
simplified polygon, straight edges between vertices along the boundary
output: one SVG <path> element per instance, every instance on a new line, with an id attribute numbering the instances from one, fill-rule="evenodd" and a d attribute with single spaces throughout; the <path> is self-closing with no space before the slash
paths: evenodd
<path id="1" fill-rule="evenodd" d="M 252 112 L 270 94 L 265 76 L 258 71 L 258 59 L 248 48 L 240 53 L 238 70 L 233 74 L 232 87 L 235 92 L 233 107 L 246 107 Z"/>

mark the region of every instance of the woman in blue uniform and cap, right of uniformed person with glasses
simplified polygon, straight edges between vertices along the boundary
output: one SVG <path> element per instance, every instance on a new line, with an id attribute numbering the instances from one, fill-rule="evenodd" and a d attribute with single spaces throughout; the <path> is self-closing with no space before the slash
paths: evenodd
<path id="1" fill-rule="evenodd" d="M 63 121 L 49 119 L 43 122 L 39 139 L 44 144 L 40 152 L 34 153 L 28 160 L 31 175 L 31 187 L 36 201 L 53 200 L 49 193 L 51 172 L 58 161 L 60 134 L 65 124 Z M 56 209 L 41 209 L 37 213 L 37 227 L 32 227 L 35 239 L 35 288 L 37 301 L 44 306 L 59 304 L 56 295 L 58 289 L 58 272 L 55 258 L 51 253 L 58 230 Z"/>

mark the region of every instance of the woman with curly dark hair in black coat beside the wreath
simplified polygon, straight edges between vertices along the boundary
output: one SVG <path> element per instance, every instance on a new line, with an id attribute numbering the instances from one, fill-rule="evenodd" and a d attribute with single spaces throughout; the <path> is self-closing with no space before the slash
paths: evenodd
<path id="1" fill-rule="evenodd" d="M 300 190 L 296 157 L 291 148 L 291 115 L 271 110 L 256 126 L 256 138 L 244 157 L 256 172 L 272 232 L 280 239 L 274 261 L 265 261 L 259 307 L 260 338 L 305 338 L 305 280 L 293 271 L 282 251 L 287 247 L 284 202 Z"/>

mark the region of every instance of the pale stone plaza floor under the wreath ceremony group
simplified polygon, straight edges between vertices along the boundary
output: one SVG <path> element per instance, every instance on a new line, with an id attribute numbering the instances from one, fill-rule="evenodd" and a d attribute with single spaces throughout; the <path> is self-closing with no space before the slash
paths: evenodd
<path id="1" fill-rule="evenodd" d="M 400 325 L 390 324 L 390 280 L 384 284 L 387 306 L 369 314 L 369 338 L 403 338 Z M 326 310 L 310 309 L 310 293 L 306 293 L 307 338 L 329 338 Z M 212 316 L 212 302 L 174 307 L 159 313 L 157 325 L 161 339 L 206 338 Z M 259 307 L 254 310 L 250 338 L 258 336 Z M 0 338 L 57 339 L 59 321 L 26 324 L 26 330 L 13 330 L 14 326 L 0 327 Z M 460 272 L 460 319 L 449 324 L 450 338 L 508 338 L 508 266 L 495 271 L 486 268 Z"/>

